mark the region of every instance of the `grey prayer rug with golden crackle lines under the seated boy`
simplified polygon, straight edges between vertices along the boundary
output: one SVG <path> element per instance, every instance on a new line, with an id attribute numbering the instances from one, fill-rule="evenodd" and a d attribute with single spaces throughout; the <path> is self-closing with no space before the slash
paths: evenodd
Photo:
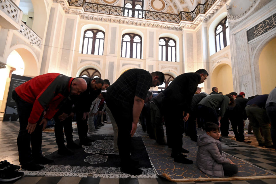
<path id="1" fill-rule="evenodd" d="M 239 172 L 233 177 L 218 178 L 207 175 L 199 170 L 196 165 L 197 146 L 196 142 L 189 137 L 183 137 L 183 147 L 190 151 L 185 153 L 187 158 L 193 160 L 193 164 L 181 164 L 174 162 L 171 158 L 172 149 L 168 146 L 158 145 L 155 140 L 142 137 L 153 167 L 157 174 L 169 181 L 231 181 L 248 179 L 276 178 L 276 176 L 266 170 L 256 167 L 248 162 L 233 157 L 227 153 L 227 157 L 238 166 Z"/>

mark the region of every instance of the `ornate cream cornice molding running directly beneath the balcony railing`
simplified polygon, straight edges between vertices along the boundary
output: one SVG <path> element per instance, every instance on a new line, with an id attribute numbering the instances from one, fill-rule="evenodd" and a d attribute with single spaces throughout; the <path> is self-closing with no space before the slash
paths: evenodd
<path id="1" fill-rule="evenodd" d="M 123 16 L 111 16 L 105 14 L 97 14 L 97 13 L 87 13 L 83 11 L 83 8 L 80 7 L 69 7 L 68 3 L 64 0 L 53 0 L 53 2 L 59 3 L 66 14 L 75 14 L 78 15 L 81 19 L 84 20 L 94 20 L 101 22 L 111 22 L 118 24 L 126 24 L 126 25 L 134 25 L 134 26 L 144 26 L 158 29 L 167 29 L 167 30 L 175 30 L 181 31 L 182 29 L 195 29 L 198 24 L 201 22 L 207 22 L 216 12 L 219 10 L 228 0 L 217 0 L 217 2 L 213 5 L 213 8 L 208 10 L 208 12 L 203 15 L 200 14 L 193 21 L 181 21 L 179 24 L 177 23 L 168 23 L 161 22 L 155 20 L 147 20 L 147 19 L 133 19 L 129 17 Z"/>

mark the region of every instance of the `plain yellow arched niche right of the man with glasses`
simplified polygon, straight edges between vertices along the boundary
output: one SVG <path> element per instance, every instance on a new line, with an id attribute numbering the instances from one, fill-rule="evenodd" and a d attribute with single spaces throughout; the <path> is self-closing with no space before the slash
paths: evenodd
<path id="1" fill-rule="evenodd" d="M 233 92 L 232 68 L 228 64 L 222 63 L 214 69 L 211 76 L 211 87 L 213 86 L 216 86 L 223 94 Z"/>

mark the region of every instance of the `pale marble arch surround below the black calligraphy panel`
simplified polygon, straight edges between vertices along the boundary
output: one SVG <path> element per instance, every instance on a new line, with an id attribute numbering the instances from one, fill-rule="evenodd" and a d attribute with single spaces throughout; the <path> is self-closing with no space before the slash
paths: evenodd
<path id="1" fill-rule="evenodd" d="M 275 38 L 276 38 L 276 33 L 273 33 L 273 34 L 267 36 L 266 38 L 264 38 L 259 43 L 259 45 L 256 47 L 256 49 L 255 49 L 255 51 L 252 55 L 250 65 L 251 65 L 251 69 L 254 70 L 254 72 L 252 71 L 252 73 L 251 73 L 252 74 L 252 80 L 253 80 L 253 89 L 254 90 L 256 89 L 256 92 L 254 92 L 254 94 L 262 94 L 261 76 L 260 76 L 260 68 L 259 68 L 260 55 L 261 55 L 263 49 L 265 48 L 265 46 Z M 258 42 L 258 40 L 256 40 L 255 42 Z"/>

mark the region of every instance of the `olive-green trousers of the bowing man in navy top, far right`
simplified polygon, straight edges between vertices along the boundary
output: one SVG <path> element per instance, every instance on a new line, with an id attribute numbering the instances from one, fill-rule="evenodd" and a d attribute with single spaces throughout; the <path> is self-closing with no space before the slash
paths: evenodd
<path id="1" fill-rule="evenodd" d="M 269 126 L 269 119 L 266 110 L 255 105 L 248 105 L 245 107 L 245 111 L 259 144 L 265 143 L 266 146 L 271 146 L 271 128 Z M 262 138 L 260 128 L 262 128 L 264 139 Z"/>

